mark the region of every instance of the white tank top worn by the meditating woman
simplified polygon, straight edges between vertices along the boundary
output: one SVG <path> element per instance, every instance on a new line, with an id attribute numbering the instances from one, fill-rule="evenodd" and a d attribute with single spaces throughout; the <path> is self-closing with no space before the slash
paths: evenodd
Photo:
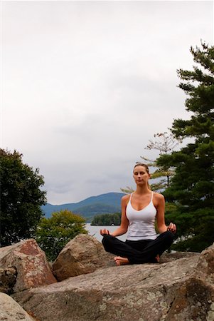
<path id="1" fill-rule="evenodd" d="M 129 230 L 127 240 L 154 240 L 156 231 L 154 228 L 156 218 L 156 208 L 153 204 L 153 192 L 151 192 L 151 201 L 142 210 L 132 208 L 132 194 L 127 204 L 126 215 L 129 220 Z"/>

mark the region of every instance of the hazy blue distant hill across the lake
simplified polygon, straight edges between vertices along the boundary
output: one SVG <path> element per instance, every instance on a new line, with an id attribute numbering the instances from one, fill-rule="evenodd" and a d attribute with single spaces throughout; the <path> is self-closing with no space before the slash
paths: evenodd
<path id="1" fill-rule="evenodd" d="M 121 198 L 124 193 L 107 193 L 98 196 L 91 196 L 78 203 L 52 205 L 47 203 L 42 206 L 46 218 L 58 210 L 71 210 L 75 214 L 82 215 L 87 222 L 90 222 L 95 215 L 120 212 Z"/>

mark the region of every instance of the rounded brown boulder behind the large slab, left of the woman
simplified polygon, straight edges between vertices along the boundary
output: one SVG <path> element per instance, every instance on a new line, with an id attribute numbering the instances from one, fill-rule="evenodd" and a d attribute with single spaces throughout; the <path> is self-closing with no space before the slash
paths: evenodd
<path id="1" fill-rule="evenodd" d="M 70 240 L 53 263 L 53 274 L 58 281 L 91 273 L 100 267 L 113 266 L 115 255 L 105 252 L 96 238 L 79 234 Z"/>

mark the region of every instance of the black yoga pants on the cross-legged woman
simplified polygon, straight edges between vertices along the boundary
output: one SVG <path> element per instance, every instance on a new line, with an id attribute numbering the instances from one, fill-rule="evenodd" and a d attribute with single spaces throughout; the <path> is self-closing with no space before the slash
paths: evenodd
<path id="1" fill-rule="evenodd" d="M 118 240 L 112 235 L 104 235 L 102 244 L 109 253 L 127 258 L 130 264 L 156 263 L 156 255 L 166 251 L 174 240 L 170 231 L 161 233 L 155 240 Z"/>

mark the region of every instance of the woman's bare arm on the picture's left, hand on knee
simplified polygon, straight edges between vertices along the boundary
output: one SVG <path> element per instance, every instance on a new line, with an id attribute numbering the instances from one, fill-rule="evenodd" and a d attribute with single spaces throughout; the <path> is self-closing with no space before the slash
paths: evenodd
<path id="1" fill-rule="evenodd" d="M 117 230 L 111 233 L 112 236 L 119 236 L 127 233 L 127 229 L 129 226 L 129 220 L 127 219 L 126 209 L 127 203 L 129 202 L 130 195 L 124 195 L 121 200 L 121 223 Z M 101 235 L 110 234 L 109 230 L 100 230 Z"/>

